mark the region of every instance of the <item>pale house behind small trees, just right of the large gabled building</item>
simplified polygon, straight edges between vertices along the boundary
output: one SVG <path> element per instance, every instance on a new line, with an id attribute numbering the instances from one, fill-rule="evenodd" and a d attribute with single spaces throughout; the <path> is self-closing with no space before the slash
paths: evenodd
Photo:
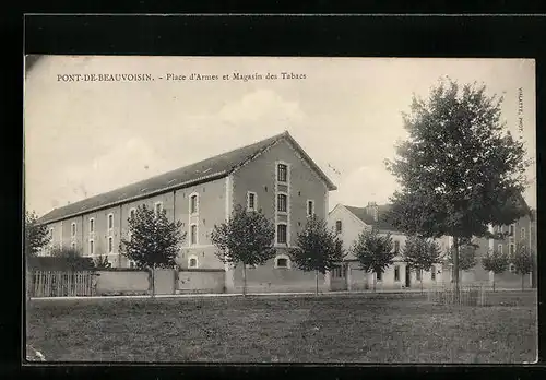
<path id="1" fill-rule="evenodd" d="M 342 269 L 332 273 L 331 282 L 340 289 L 369 289 L 375 280 L 377 289 L 418 288 L 422 281 L 424 286 L 440 285 L 444 282 L 444 270 L 441 263 L 432 265 L 430 271 L 423 273 L 413 271 L 406 265 L 402 258 L 406 236 L 382 217 L 389 209 L 390 205 L 378 205 L 375 202 L 369 202 L 365 207 L 337 204 L 329 213 L 328 225 L 341 237 L 343 248 L 347 252 Z M 351 252 L 358 235 L 364 230 L 371 230 L 371 228 L 376 228 L 380 234 L 391 234 L 393 249 L 396 252 L 393 265 L 383 273 L 363 271 L 357 259 Z M 449 247 L 447 238 L 438 239 L 438 244 L 442 251 Z"/>

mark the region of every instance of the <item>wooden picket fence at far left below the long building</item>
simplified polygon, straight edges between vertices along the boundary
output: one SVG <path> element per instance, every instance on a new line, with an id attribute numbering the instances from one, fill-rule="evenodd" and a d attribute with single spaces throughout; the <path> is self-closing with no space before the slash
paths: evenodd
<path id="1" fill-rule="evenodd" d="M 31 297 L 94 296 L 94 274 L 91 271 L 34 271 L 28 282 Z"/>

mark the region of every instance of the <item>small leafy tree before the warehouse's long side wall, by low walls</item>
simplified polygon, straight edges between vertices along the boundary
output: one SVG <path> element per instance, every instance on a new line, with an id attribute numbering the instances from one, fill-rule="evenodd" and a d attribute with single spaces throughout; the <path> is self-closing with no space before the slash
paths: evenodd
<path id="1" fill-rule="evenodd" d="M 120 252 L 140 269 L 152 271 L 152 296 L 155 296 L 155 269 L 173 268 L 186 239 L 182 222 L 170 222 L 165 210 L 156 213 L 145 204 L 128 218 L 130 238 L 122 238 Z"/>

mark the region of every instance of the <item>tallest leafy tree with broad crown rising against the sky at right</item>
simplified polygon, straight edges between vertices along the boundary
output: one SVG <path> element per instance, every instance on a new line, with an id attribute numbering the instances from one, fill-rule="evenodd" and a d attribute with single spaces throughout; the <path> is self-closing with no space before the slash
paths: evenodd
<path id="1" fill-rule="evenodd" d="M 462 238 L 488 235 L 488 224 L 508 225 L 529 212 L 525 149 L 501 121 L 502 98 L 485 85 L 441 81 L 430 97 L 414 96 L 403 115 L 410 136 L 387 161 L 401 191 L 391 201 L 391 223 L 410 235 L 453 237 L 455 295 Z"/>

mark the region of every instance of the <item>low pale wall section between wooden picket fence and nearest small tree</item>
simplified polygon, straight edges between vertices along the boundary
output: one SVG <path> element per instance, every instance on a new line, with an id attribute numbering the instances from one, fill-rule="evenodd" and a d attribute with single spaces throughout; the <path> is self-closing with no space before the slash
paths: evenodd
<path id="1" fill-rule="evenodd" d="M 96 295 L 149 294 L 149 272 L 139 270 L 108 270 L 96 273 Z"/>

